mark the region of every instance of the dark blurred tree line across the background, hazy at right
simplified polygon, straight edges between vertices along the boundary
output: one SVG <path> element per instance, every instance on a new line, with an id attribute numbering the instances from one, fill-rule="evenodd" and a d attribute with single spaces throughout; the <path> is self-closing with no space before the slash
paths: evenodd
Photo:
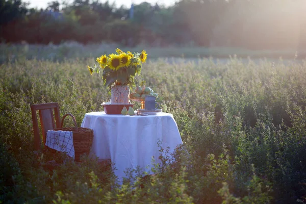
<path id="1" fill-rule="evenodd" d="M 0 0 L 3 42 L 116 42 L 123 46 L 193 45 L 250 49 L 306 48 L 304 0 L 181 0 L 131 8 L 98 0 L 54 1 L 46 9 Z"/>

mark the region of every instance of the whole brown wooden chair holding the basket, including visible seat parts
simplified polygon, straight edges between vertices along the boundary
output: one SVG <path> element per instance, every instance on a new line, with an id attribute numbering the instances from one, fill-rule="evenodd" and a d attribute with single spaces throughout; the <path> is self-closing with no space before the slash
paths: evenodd
<path id="1" fill-rule="evenodd" d="M 61 118 L 60 118 L 60 108 L 58 103 L 47 103 L 47 104 L 36 104 L 31 105 L 32 111 L 32 122 L 34 130 L 34 143 L 35 150 L 41 150 L 41 139 L 37 120 L 37 111 L 39 111 L 40 125 L 42 130 L 43 147 L 46 143 L 46 133 L 48 130 L 53 130 L 56 128 L 61 128 Z M 54 114 L 53 114 L 54 112 Z M 44 148 L 45 149 L 45 148 Z M 55 150 L 53 151 L 55 152 Z M 110 159 L 98 159 L 98 164 L 100 167 L 110 166 Z M 47 167 L 54 169 L 54 167 L 59 166 L 55 161 L 49 161 Z"/>

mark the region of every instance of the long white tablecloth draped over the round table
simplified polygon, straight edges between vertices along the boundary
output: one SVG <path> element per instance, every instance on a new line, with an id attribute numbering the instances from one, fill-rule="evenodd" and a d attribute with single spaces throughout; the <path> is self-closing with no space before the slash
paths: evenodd
<path id="1" fill-rule="evenodd" d="M 126 168 L 139 166 L 150 173 L 152 157 L 159 163 L 159 139 L 164 149 L 170 147 L 170 152 L 183 144 L 173 115 L 169 113 L 123 116 L 92 112 L 85 114 L 81 127 L 93 130 L 92 152 L 99 158 L 112 160 L 119 182 L 125 177 Z"/>

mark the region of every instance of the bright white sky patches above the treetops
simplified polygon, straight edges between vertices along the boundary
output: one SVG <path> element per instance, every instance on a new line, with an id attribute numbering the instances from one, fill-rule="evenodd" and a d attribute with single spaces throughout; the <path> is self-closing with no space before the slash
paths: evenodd
<path id="1" fill-rule="evenodd" d="M 30 3 L 31 8 L 43 8 L 45 9 L 48 5 L 49 2 L 52 2 L 54 0 L 25 0 L 23 2 L 28 2 Z M 155 4 L 158 3 L 159 5 L 165 5 L 165 6 L 170 6 L 173 5 L 177 0 L 146 0 L 145 2 L 148 2 L 150 4 Z M 59 0 L 61 3 L 62 0 Z M 68 2 L 73 2 L 73 0 L 70 0 Z M 100 2 L 104 3 L 106 0 L 100 0 Z M 112 4 L 116 2 L 116 7 L 120 7 L 121 5 L 124 5 L 125 7 L 129 8 L 132 4 L 140 4 L 141 2 L 144 2 L 144 0 L 109 0 L 109 2 Z"/>

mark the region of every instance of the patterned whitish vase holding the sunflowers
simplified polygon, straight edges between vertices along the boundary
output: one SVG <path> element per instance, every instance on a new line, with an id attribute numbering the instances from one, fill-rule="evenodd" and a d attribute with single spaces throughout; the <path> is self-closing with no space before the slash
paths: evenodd
<path id="1" fill-rule="evenodd" d="M 111 104 L 129 104 L 129 86 L 115 85 L 111 89 Z"/>

